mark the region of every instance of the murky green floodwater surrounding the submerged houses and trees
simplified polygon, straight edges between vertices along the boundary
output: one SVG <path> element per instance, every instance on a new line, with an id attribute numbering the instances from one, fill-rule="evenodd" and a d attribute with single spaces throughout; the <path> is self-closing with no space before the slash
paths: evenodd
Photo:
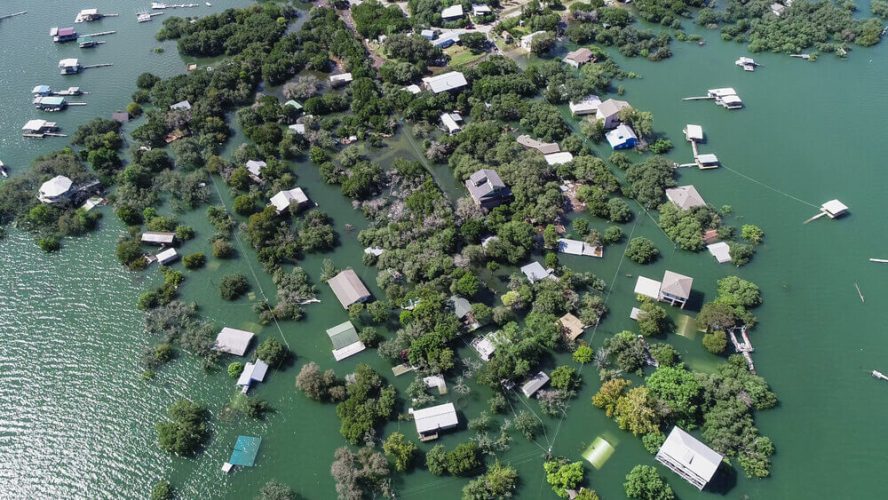
<path id="1" fill-rule="evenodd" d="M 248 2 L 216 1 L 171 12 L 165 16 L 200 15 Z M 143 5 L 144 4 L 144 5 Z M 137 24 L 135 12 L 148 2 L 94 1 L 90 6 L 119 12 L 80 31 L 118 30 L 104 38 L 108 43 L 81 51 L 73 45 L 54 46 L 47 31 L 71 24 L 84 6 L 51 0 L 7 1 L 3 11 L 28 10 L 25 16 L 0 21 L 0 43 L 6 48 L 0 67 L 0 159 L 15 173 L 27 168 L 42 152 L 64 146 L 64 139 L 25 141 L 19 128 L 40 117 L 30 105 L 29 90 L 38 83 L 54 87 L 79 85 L 90 94 L 89 105 L 62 114 L 50 114 L 63 130 L 93 116 L 108 116 L 129 102 L 136 76 L 150 70 L 161 76 L 183 71 L 175 44 L 158 43 L 153 33 L 160 19 Z M 888 115 L 888 45 L 856 50 L 848 60 L 822 57 L 814 64 L 785 56 L 756 55 L 763 67 L 745 73 L 733 62 L 745 55 L 743 47 L 706 33 L 707 44 L 674 43 L 674 57 L 663 63 L 620 60 L 625 69 L 642 78 L 622 82 L 625 98 L 635 107 L 652 111 L 655 127 L 676 144 L 670 154 L 678 162 L 690 160 L 683 142 L 687 123 L 703 126 L 705 152 L 717 153 L 724 168 L 700 172 L 682 169 L 681 183 L 694 184 L 711 205 L 731 205 L 729 223 L 759 224 L 767 233 L 764 245 L 749 266 L 736 270 L 718 265 L 708 254 L 673 251 L 653 220 L 639 214 L 624 231 L 644 235 L 663 252 L 658 263 L 641 267 L 621 260 L 622 247 L 611 247 L 603 260 L 564 257 L 572 268 L 604 278 L 609 290 L 610 315 L 597 331 L 585 338 L 595 346 L 608 335 L 631 328 L 628 319 L 634 303 L 635 276 L 653 278 L 667 267 L 693 276 L 702 300 L 711 300 L 717 279 L 739 273 L 758 283 L 765 304 L 756 311 L 760 325 L 752 332 L 753 357 L 780 397 L 778 408 L 761 412 L 757 426 L 770 436 L 777 454 L 772 477 L 748 480 L 738 471 L 724 494 L 729 498 L 805 499 L 880 498 L 888 485 L 880 474 L 888 465 L 883 443 L 884 426 L 873 425 L 888 413 L 888 385 L 869 376 L 872 369 L 888 369 L 883 333 L 888 292 L 882 273 L 888 272 L 869 257 L 888 257 L 888 234 L 883 231 L 885 182 L 880 180 L 888 144 L 883 139 Z M 154 53 L 164 47 L 163 53 Z M 12 50 L 14 49 L 14 50 Z M 80 57 L 85 64 L 113 63 L 111 68 L 87 70 L 80 76 L 61 77 L 56 62 Z M 683 102 L 708 88 L 732 86 L 746 103 L 742 111 L 728 112 L 711 102 Z M 131 130 L 133 125 L 129 125 Z M 239 140 L 235 138 L 234 141 Z M 237 145 L 232 143 L 229 150 Z M 403 136 L 377 153 L 381 161 L 399 155 L 413 157 Z M 602 154 L 607 154 L 602 151 Z M 447 174 L 435 169 L 436 176 Z M 366 226 L 351 202 L 335 186 L 320 180 L 308 163 L 295 166 L 298 182 L 320 201 L 335 221 L 340 246 L 326 255 L 308 256 L 303 267 L 317 282 L 324 258 L 338 266 L 351 265 L 375 294 L 375 271 L 361 265 L 356 234 Z M 451 182 L 442 182 L 457 189 Z M 821 203 L 838 198 L 851 214 L 841 220 L 820 219 L 807 225 Z M 218 201 L 218 200 L 217 200 Z M 230 203 L 225 198 L 221 200 Z M 260 327 L 252 313 L 252 300 L 274 287 L 247 249 L 241 258 L 210 261 L 206 269 L 186 271 L 183 298 L 195 301 L 201 313 L 217 325 L 256 331 L 261 338 L 283 338 L 296 354 L 295 365 L 271 373 L 255 391 L 275 408 L 262 422 L 212 422 L 212 438 L 197 459 L 172 458 L 155 445 L 154 423 L 167 406 L 180 397 L 206 404 L 214 414 L 235 393 L 223 372 L 205 373 L 187 355 L 161 369 L 155 380 L 140 378 L 138 358 L 154 339 L 144 332 L 142 314 L 135 308 L 138 294 L 159 281 L 156 269 L 130 273 L 114 258 L 114 243 L 124 228 L 106 210 L 102 229 L 80 239 L 65 240 L 63 251 L 46 255 L 30 236 L 10 231 L 0 242 L 0 491 L 6 496 L 29 498 L 143 498 L 153 482 L 169 479 L 183 498 L 248 498 L 266 481 L 289 484 L 307 498 L 330 498 L 329 474 L 335 448 L 344 441 L 332 405 L 308 401 L 294 389 L 299 367 L 313 360 L 344 376 L 357 363 L 369 363 L 398 387 L 409 375 L 395 379 L 390 366 L 373 351 L 341 363 L 330 355 L 324 330 L 346 319 L 329 288 L 320 285 L 321 304 L 307 307 L 305 320 Z M 203 211 L 183 214 L 198 236 L 184 246 L 186 253 L 209 254 L 211 229 Z M 354 227 L 347 231 L 346 225 Z M 603 228 L 600 221 L 593 225 Z M 221 276 L 248 274 L 254 295 L 234 304 L 218 297 Z M 252 273 L 255 273 L 255 278 Z M 631 275 L 632 277 L 628 277 Z M 858 284 L 866 302 L 858 297 Z M 674 311 L 677 312 L 677 311 Z M 667 339 L 695 369 L 709 370 L 716 358 L 705 353 L 699 339 L 671 335 Z M 468 349 L 460 353 L 471 357 Z M 555 360 L 568 363 L 566 355 Z M 542 454 L 551 447 L 556 455 L 582 460 L 588 483 L 603 498 L 621 498 L 623 477 L 636 464 L 653 464 L 639 440 L 620 431 L 589 398 L 597 390 L 597 374 L 586 368 L 586 384 L 564 419 L 543 417 L 546 432 L 534 443 L 515 436 L 500 460 L 515 465 L 521 474 L 522 498 L 552 495 L 542 472 Z M 443 401 L 456 403 L 465 419 L 486 407 L 490 392 L 471 386 L 467 395 L 452 390 Z M 534 402 L 512 398 L 516 410 L 539 410 Z M 403 408 L 403 409 L 406 409 Z M 390 422 L 384 432 L 400 430 L 413 436 L 409 421 Z M 263 438 L 257 466 L 232 475 L 220 471 L 239 434 Z M 461 430 L 445 436 L 448 446 L 468 439 Z M 428 449 L 428 445 L 422 445 Z M 588 450 L 588 453 L 587 453 Z M 699 493 L 661 469 L 681 498 L 712 497 Z M 423 470 L 395 479 L 402 498 L 454 498 L 465 479 L 434 478 Z"/>

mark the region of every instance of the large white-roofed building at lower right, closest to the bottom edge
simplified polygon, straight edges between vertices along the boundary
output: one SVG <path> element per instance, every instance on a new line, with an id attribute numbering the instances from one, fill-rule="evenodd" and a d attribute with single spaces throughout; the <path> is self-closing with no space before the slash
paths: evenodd
<path id="1" fill-rule="evenodd" d="M 723 459 L 721 454 L 678 426 L 672 428 L 672 432 L 657 452 L 658 462 L 696 486 L 698 490 L 706 487 Z"/>

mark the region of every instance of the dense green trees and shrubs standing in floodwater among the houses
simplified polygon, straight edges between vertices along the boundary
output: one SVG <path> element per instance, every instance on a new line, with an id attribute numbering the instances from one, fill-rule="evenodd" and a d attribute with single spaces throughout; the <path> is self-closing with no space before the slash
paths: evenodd
<path id="1" fill-rule="evenodd" d="M 567 338 L 559 322 L 570 313 L 586 327 L 597 327 L 607 320 L 609 289 L 593 273 L 561 262 L 559 237 L 608 246 L 618 256 L 622 248 L 628 260 L 652 263 L 667 257 L 649 238 L 626 237 L 633 221 L 651 215 L 678 251 L 700 252 L 707 238 L 717 237 L 730 242 L 732 261 L 741 266 L 751 261 L 764 231 L 752 224 L 736 230 L 728 225 L 730 210 L 682 210 L 665 201 L 665 189 L 677 186 L 678 179 L 671 161 L 659 156 L 671 144 L 659 138 L 650 113 L 630 108 L 619 116 L 644 140 L 641 155 L 598 156 L 600 149 L 593 145 L 602 140 L 603 124 L 576 123 L 566 118 L 564 108 L 590 93 L 615 96 L 614 81 L 630 76 L 606 49 L 592 47 L 596 62 L 574 70 L 547 57 L 558 42 L 544 36 L 531 46 L 542 57 L 526 67 L 490 55 L 464 69 L 465 88 L 437 94 L 404 90 L 442 62 L 441 50 L 410 33 L 411 28 L 465 23 L 442 22 L 440 10 L 447 3 L 411 1 L 409 19 L 397 6 L 373 1 L 353 8 L 361 36 L 387 35 L 381 43 L 386 60 L 379 68 L 330 8 L 312 9 L 299 30 L 290 29 L 297 11 L 271 2 L 196 22 L 170 16 L 158 39 L 175 40 L 183 55 L 220 57 L 212 71 L 167 79 L 140 76 L 133 94 L 138 108 L 133 109 L 144 113 L 144 120 L 132 131 L 131 144 L 116 122 L 97 119 L 84 125 L 70 148 L 36 159 L 28 174 L 0 187 L 0 222 L 16 221 L 35 234 L 41 247 L 58 250 L 62 237 L 94 229 L 98 212 L 41 204 L 34 196 L 39 184 L 66 175 L 78 184 L 95 179 L 113 188 L 109 202 L 129 228 L 116 248 L 119 261 L 133 272 L 156 271 L 161 278 L 137 304 L 145 311 L 148 334 L 156 339 L 142 355 L 144 377 L 162 377 L 165 364 L 196 358 L 210 376 L 234 378 L 244 365 L 213 349 L 222 325 L 181 301 L 179 289 L 188 280 L 207 280 L 216 261 L 252 259 L 242 246 L 249 245 L 256 252 L 256 270 L 270 276 L 276 294 L 254 300 L 254 277 L 239 272 L 214 275 L 220 297 L 250 303 L 249 314 L 261 324 L 286 326 L 309 314 L 317 288 L 300 265 L 307 255 L 335 251 L 343 235 L 334 230 L 323 200 L 316 208 L 267 205 L 273 195 L 298 184 L 294 161 L 317 169 L 323 182 L 337 186 L 365 218 L 366 228 L 354 235 L 361 245 L 380 250 L 366 253 L 362 262 L 347 263 L 375 268 L 382 291 L 367 304 L 350 306 L 348 318 L 369 350 L 392 366 L 406 364 L 417 371 L 407 391 L 399 393 L 369 365 L 359 364 L 342 378 L 313 360 L 299 359 L 275 337 L 262 340 L 251 354 L 251 360 L 275 370 L 271 376 L 292 376 L 287 375 L 295 372 L 292 365 L 302 363 L 296 390 L 309 404 L 335 405 L 341 439 L 349 445 L 330 457 L 340 498 L 394 496 L 398 483 L 393 477 L 417 468 L 469 478 L 464 498 L 518 494 L 521 478 L 509 463 L 512 440 L 534 441 L 553 422 L 570 418 L 571 405 L 588 405 L 588 400 L 576 400 L 584 384 L 599 387 L 592 404 L 652 453 L 678 425 L 724 454 L 727 467 L 749 477 L 768 476 L 775 447 L 759 433 L 755 415 L 774 407 L 776 395 L 743 357 L 728 354 L 729 333 L 756 324 L 752 311 L 762 303 L 762 293 L 755 284 L 724 278 L 717 283 L 716 298 L 702 305 L 696 318 L 705 331 L 700 343 L 717 364 L 707 372 L 682 362 L 670 345 L 673 315 L 656 302 L 642 300 L 635 331 L 616 333 L 598 348 L 582 337 Z M 815 47 L 838 52 L 846 44 L 872 45 L 881 37 L 872 21 L 856 20 L 849 9 L 830 2 L 796 0 L 779 17 L 759 3 L 732 0 L 724 10 L 700 10 L 702 2 L 696 1 L 638 1 L 634 8 L 574 2 L 565 13 L 557 3 L 530 2 L 497 29 L 516 37 L 528 30 L 554 33 L 564 13 L 564 34 L 571 41 L 654 61 L 671 55 L 674 33 L 667 30 L 680 29 L 695 15 L 701 24 L 721 26 L 726 39 L 748 42 L 753 51 Z M 875 15 L 884 10 L 874 5 Z M 662 30 L 640 28 L 636 17 Z M 826 18 L 836 23 L 824 30 Z M 483 51 L 479 42 L 472 37 L 463 41 Z M 327 75 L 343 72 L 354 77 L 349 85 L 326 83 Z M 281 102 L 267 87 L 257 93 L 263 83 L 283 85 L 285 98 L 298 100 L 299 106 Z M 184 101 L 187 109 L 173 106 Z M 436 124 L 443 112 L 453 111 L 466 123 L 458 133 L 444 134 Z M 233 135 L 232 120 L 245 142 L 223 155 Z M 418 154 L 381 160 L 395 133 L 409 134 Z M 550 165 L 519 145 L 517 133 L 558 142 L 573 160 Z M 122 155 L 126 146 L 130 151 Z M 248 162 L 261 163 L 261 169 L 248 168 Z M 495 170 L 509 187 L 510 196 L 496 208 L 480 208 L 462 190 L 445 191 L 432 175 L 443 171 L 459 185 L 480 169 Z M 578 186 L 576 200 L 582 204 L 570 221 L 562 194 L 566 182 Z M 230 206 L 211 205 L 222 201 L 222 190 L 233 200 Z M 191 213 L 205 214 L 213 234 L 195 233 L 182 224 Z M 609 225 L 600 230 L 603 224 Z M 178 270 L 177 263 L 148 268 L 148 249 L 140 241 L 144 231 L 174 233 L 175 246 L 185 252 L 181 267 L 188 271 Z M 210 242 L 207 253 L 191 248 L 189 242 L 200 239 Z M 518 272 L 534 260 L 551 270 L 551 279 L 531 282 Z M 332 260 L 326 261 L 322 280 L 337 271 Z M 493 333 L 496 352 L 488 361 L 460 350 L 475 337 L 471 323 L 454 314 L 453 295 L 469 301 L 472 328 Z M 589 371 L 583 377 L 584 365 L 594 366 L 600 380 Z M 549 382 L 533 397 L 536 403 L 510 413 L 508 408 L 523 396 L 504 387 L 540 370 Z M 452 446 L 417 444 L 409 432 L 384 435 L 387 422 L 412 420 L 407 408 L 447 401 L 427 387 L 423 377 L 430 375 L 446 377 L 456 396 L 486 386 L 484 391 L 492 391 L 489 411 L 462 415 L 465 428 L 453 431 L 462 442 Z M 273 411 L 260 399 L 238 394 L 215 416 L 222 422 L 235 415 L 261 419 Z M 211 439 L 209 421 L 204 406 L 176 402 L 156 425 L 158 446 L 197 456 Z M 540 461 L 555 495 L 564 498 L 570 490 L 577 498 L 598 497 L 583 462 L 551 456 Z M 164 498 L 170 491 L 169 483 L 158 483 L 152 496 Z M 674 496 L 647 465 L 626 476 L 625 491 L 630 498 Z M 291 497 L 287 486 L 274 482 L 260 492 L 260 498 Z"/>

